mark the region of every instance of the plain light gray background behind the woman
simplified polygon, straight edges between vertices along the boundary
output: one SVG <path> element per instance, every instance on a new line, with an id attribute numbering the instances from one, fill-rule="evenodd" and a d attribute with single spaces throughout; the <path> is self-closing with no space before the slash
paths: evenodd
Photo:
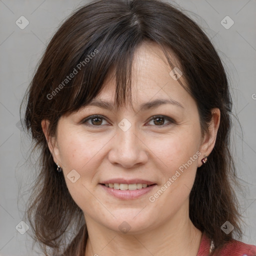
<path id="1" fill-rule="evenodd" d="M 35 65 L 59 23 L 78 0 L 0 0 L 0 255 L 37 255 L 28 232 L 20 234 L 33 164 L 27 153 L 30 140 L 20 130 L 19 104 Z M 177 0 L 216 47 L 232 87 L 233 154 L 242 192 L 237 195 L 244 216 L 243 242 L 256 244 L 256 0 Z M 20 29 L 21 16 L 29 24 Z M 229 16 L 226 29 L 220 21 Z M 230 25 L 230 20 L 222 21 Z M 23 23 L 24 24 L 24 23 Z M 36 157 L 34 157 L 36 159 Z M 36 248 L 36 247 L 35 247 Z"/>

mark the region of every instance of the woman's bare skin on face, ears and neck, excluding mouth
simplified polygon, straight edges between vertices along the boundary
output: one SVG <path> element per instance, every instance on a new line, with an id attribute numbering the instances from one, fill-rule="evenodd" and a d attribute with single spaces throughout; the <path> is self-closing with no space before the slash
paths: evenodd
<path id="1" fill-rule="evenodd" d="M 112 111 L 87 106 L 61 116 L 54 137 L 47 135 L 47 120 L 42 121 L 42 128 L 54 161 L 63 169 L 68 190 L 84 213 L 89 234 L 85 256 L 196 256 L 202 233 L 189 219 L 188 196 L 201 159 L 214 146 L 220 112 L 212 109 L 209 134 L 202 136 L 196 103 L 169 75 L 171 69 L 160 48 L 143 43 L 136 49 L 133 61 L 133 109 L 130 105 Z M 114 92 L 111 77 L 96 98 L 114 102 Z M 156 98 L 172 98 L 183 107 L 162 104 L 138 111 L 141 103 Z M 90 126 L 81 122 L 92 114 L 106 118 L 101 123 L 92 118 L 87 121 Z M 164 118 L 163 124 L 152 119 L 153 115 L 165 115 L 175 122 Z M 125 132 L 118 127 L 123 118 L 131 124 Z M 150 202 L 149 196 L 196 152 L 200 156 Z M 80 175 L 74 183 L 67 178 L 72 169 Z M 147 179 L 157 185 L 137 199 L 122 200 L 98 184 L 120 177 Z M 127 233 L 118 228 L 123 221 L 130 226 Z"/>

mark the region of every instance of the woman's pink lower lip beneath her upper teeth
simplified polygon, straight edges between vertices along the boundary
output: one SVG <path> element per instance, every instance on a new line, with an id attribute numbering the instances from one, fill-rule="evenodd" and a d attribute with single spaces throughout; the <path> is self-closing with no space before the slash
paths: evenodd
<path id="1" fill-rule="evenodd" d="M 156 184 L 144 187 L 144 188 L 140 188 L 140 189 L 134 189 L 134 190 L 120 190 L 120 189 L 115 189 L 115 188 L 110 188 L 107 187 L 105 185 L 99 184 L 103 189 L 105 189 L 106 192 L 108 192 L 109 194 L 119 198 L 119 199 L 136 199 L 139 196 L 148 193 L 149 191 L 151 191 Z"/>

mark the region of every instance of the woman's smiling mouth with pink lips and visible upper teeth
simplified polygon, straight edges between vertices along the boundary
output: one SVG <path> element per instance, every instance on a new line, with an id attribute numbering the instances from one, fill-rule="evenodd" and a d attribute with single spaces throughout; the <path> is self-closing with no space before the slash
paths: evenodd
<path id="1" fill-rule="evenodd" d="M 99 185 L 106 191 L 108 194 L 117 197 L 119 199 L 136 199 L 142 195 L 145 195 L 156 186 L 156 183 L 141 180 L 124 180 L 124 179 L 112 179 L 106 180 Z"/>

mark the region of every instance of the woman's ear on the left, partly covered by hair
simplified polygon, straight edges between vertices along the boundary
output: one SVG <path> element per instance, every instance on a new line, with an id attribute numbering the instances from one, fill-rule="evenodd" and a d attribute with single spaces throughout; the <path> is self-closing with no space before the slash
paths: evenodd
<path id="1" fill-rule="evenodd" d="M 60 162 L 60 157 L 59 157 L 59 150 L 58 150 L 58 145 L 57 145 L 57 141 L 56 141 L 56 137 L 55 136 L 50 136 L 49 132 L 48 132 L 48 127 L 49 127 L 49 121 L 46 119 L 43 119 L 41 121 L 41 126 L 42 126 L 42 131 L 44 133 L 44 136 L 46 138 L 47 144 L 48 144 L 48 148 L 51 152 L 51 155 L 53 157 L 53 160 L 55 163 L 58 163 L 59 165 L 62 165 Z"/>

